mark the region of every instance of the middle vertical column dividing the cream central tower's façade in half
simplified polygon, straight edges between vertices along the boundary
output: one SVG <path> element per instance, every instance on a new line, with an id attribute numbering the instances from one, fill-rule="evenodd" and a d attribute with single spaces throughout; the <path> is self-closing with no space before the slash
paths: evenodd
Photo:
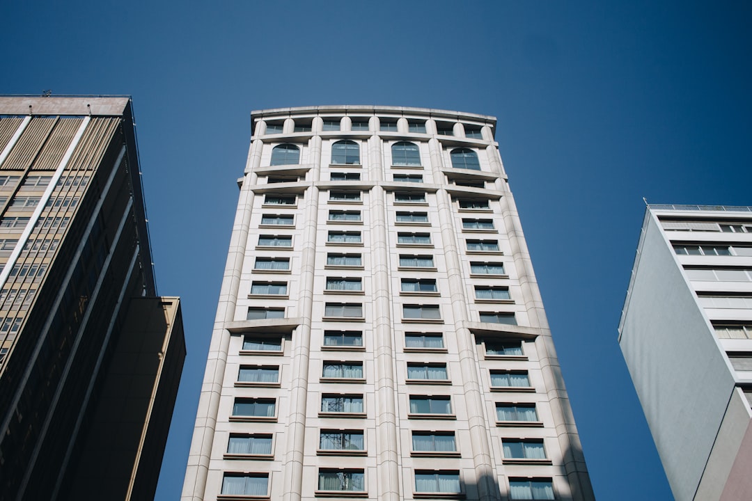
<path id="1" fill-rule="evenodd" d="M 371 119 L 371 130 L 378 130 L 378 118 Z M 383 147 L 377 134 L 368 140 L 368 176 L 384 181 Z M 392 294 L 390 292 L 389 246 L 387 245 L 386 194 L 381 184 L 371 189 L 368 215 L 371 219 L 371 289 L 373 291 L 374 366 L 376 390 L 376 475 L 378 499 L 399 501 L 399 453 L 397 434 L 397 388 L 392 332 Z"/>

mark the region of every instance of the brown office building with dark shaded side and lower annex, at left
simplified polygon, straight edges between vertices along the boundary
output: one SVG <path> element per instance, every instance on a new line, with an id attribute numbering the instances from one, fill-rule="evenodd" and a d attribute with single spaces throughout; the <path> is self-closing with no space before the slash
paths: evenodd
<path id="1" fill-rule="evenodd" d="M 129 98 L 0 97 L 0 500 L 150 499 L 185 343 Z"/>

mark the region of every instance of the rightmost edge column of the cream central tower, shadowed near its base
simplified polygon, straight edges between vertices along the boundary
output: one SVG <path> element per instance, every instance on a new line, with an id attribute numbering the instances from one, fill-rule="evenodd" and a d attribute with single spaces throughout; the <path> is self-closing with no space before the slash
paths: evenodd
<path id="1" fill-rule="evenodd" d="M 491 170 L 496 174 L 504 174 L 499 150 L 494 146 L 487 146 L 488 158 Z M 496 181 L 497 189 L 509 192 L 508 184 L 504 180 Z M 532 270 L 532 261 L 527 248 L 527 243 L 522 233 L 522 223 L 517 213 L 517 206 L 511 196 L 502 196 L 499 201 L 502 208 L 505 231 L 508 235 L 511 255 L 514 256 L 514 268 L 517 270 L 517 278 L 522 289 L 525 309 L 530 321 L 530 327 L 541 329 L 541 335 L 535 338 L 535 350 L 540 359 L 541 373 L 546 385 L 553 424 L 556 427 L 556 435 L 559 437 L 559 447 L 562 451 L 564 469 L 567 483 L 572 489 L 571 493 L 563 493 L 572 496 L 574 501 L 595 499 L 593 487 L 585 466 L 585 457 L 582 452 L 580 436 L 575 426 L 575 418 L 572 414 L 572 406 L 569 404 L 564 379 L 556 350 L 553 348 L 553 338 L 548 327 L 548 320 L 543 308 L 543 298 Z M 557 488 L 561 490 L 566 484 L 559 482 Z"/>

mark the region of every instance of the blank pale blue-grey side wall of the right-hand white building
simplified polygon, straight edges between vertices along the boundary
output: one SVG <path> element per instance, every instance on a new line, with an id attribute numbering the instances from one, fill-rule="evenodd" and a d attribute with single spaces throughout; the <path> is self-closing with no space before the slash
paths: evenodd
<path id="1" fill-rule="evenodd" d="M 693 499 L 734 379 L 653 216 L 632 273 L 620 346 L 674 496 Z"/>

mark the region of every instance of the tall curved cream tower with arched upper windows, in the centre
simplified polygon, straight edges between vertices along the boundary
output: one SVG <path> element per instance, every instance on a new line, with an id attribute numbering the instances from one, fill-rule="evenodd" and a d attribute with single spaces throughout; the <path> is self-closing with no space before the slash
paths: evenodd
<path id="1" fill-rule="evenodd" d="M 183 499 L 593 499 L 496 119 L 251 117 Z"/>

